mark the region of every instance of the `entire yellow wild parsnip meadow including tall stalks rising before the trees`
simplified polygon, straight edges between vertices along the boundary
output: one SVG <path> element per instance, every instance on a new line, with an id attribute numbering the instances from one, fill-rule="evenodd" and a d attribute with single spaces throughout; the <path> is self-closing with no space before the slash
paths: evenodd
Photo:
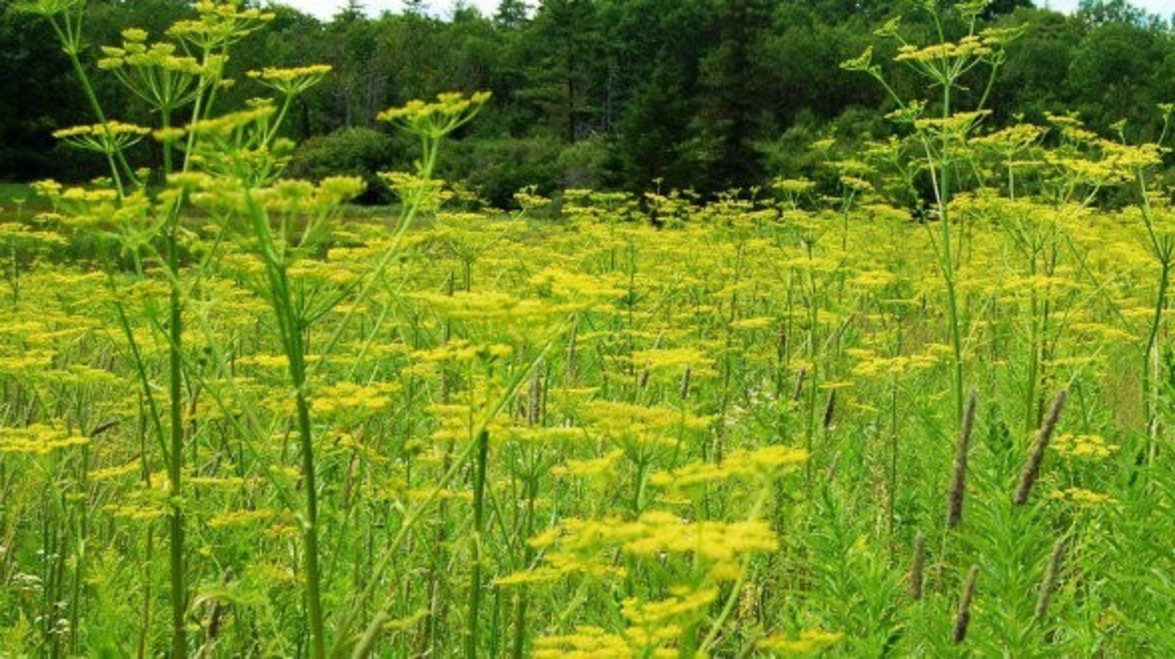
<path id="1" fill-rule="evenodd" d="M 955 114 L 1006 34 L 900 49 L 944 113 L 821 140 L 827 189 L 709 203 L 454 210 L 488 97 L 415 101 L 369 221 L 282 176 L 325 67 L 221 107 L 263 12 L 92 52 L 22 7 L 156 125 L 95 105 L 109 175 L 0 215 L 0 655 L 1175 651 L 1166 152 Z"/>

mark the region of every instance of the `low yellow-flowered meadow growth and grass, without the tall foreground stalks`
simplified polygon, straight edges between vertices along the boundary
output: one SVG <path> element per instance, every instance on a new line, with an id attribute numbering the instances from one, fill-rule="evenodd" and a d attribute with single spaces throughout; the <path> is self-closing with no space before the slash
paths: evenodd
<path id="1" fill-rule="evenodd" d="M 996 223 L 1010 208 L 961 204 L 975 402 L 948 527 L 959 431 L 925 227 L 728 201 L 658 230 L 595 199 L 555 224 L 442 213 L 306 334 L 331 624 L 375 623 L 389 655 L 938 654 L 975 565 L 962 651 L 1175 647 L 1170 386 L 1148 435 L 1156 273 L 1129 216 L 1027 207 L 1033 274 Z M 291 273 L 303 312 L 388 240 L 337 227 Z M 298 654 L 303 485 L 263 267 L 215 227 L 187 242 L 219 244 L 183 288 L 189 650 Z M 51 258 L 9 283 L 0 645 L 149 654 L 174 502 L 140 384 L 166 375 L 166 287 Z"/>

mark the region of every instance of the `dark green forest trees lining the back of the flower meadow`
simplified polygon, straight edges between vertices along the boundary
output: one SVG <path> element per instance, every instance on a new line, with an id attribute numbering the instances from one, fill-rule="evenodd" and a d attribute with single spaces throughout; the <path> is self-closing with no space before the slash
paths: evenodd
<path id="1" fill-rule="evenodd" d="M 329 21 L 275 5 L 273 25 L 236 51 L 230 74 L 237 85 L 229 94 L 257 95 L 243 73 L 261 66 L 331 65 L 333 74 L 300 96 L 288 122 L 298 143 L 289 173 L 363 175 L 372 182 L 362 199 L 368 203 L 391 199 L 374 173 L 404 168 L 415 153 L 407 137 L 377 126 L 378 112 L 477 89 L 494 93 L 491 105 L 457 135 L 442 174 L 488 203 L 509 207 L 526 186 L 543 194 L 691 189 L 710 196 L 778 176 L 819 181 L 830 155 L 810 149 L 812 142 L 835 137 L 853 153 L 897 130 L 885 117 L 893 108 L 884 89 L 840 62 L 871 46 L 875 61 L 888 62 L 893 40 L 874 29 L 899 14 L 914 42 L 929 42 L 933 23 L 918 4 L 543 0 L 529 7 L 502 0 L 492 15 L 458 4 L 442 20 L 421 0 L 375 18 L 352 0 Z M 126 26 L 159 35 L 188 12 L 183 0 L 90 0 L 90 47 L 96 55 L 99 46 L 120 42 Z M 985 21 L 1022 31 L 1007 48 L 989 127 L 1076 112 L 1103 135 L 1155 137 L 1156 105 L 1175 99 L 1175 16 L 1124 0 L 1082 0 L 1072 14 L 996 0 Z M 102 162 L 52 137 L 92 117 L 48 25 L 6 7 L 0 43 L 0 181 L 100 175 Z M 899 96 L 931 94 L 908 69 L 889 67 Z M 98 94 L 114 116 L 149 123 L 112 76 L 94 79 L 106 83 Z"/>

